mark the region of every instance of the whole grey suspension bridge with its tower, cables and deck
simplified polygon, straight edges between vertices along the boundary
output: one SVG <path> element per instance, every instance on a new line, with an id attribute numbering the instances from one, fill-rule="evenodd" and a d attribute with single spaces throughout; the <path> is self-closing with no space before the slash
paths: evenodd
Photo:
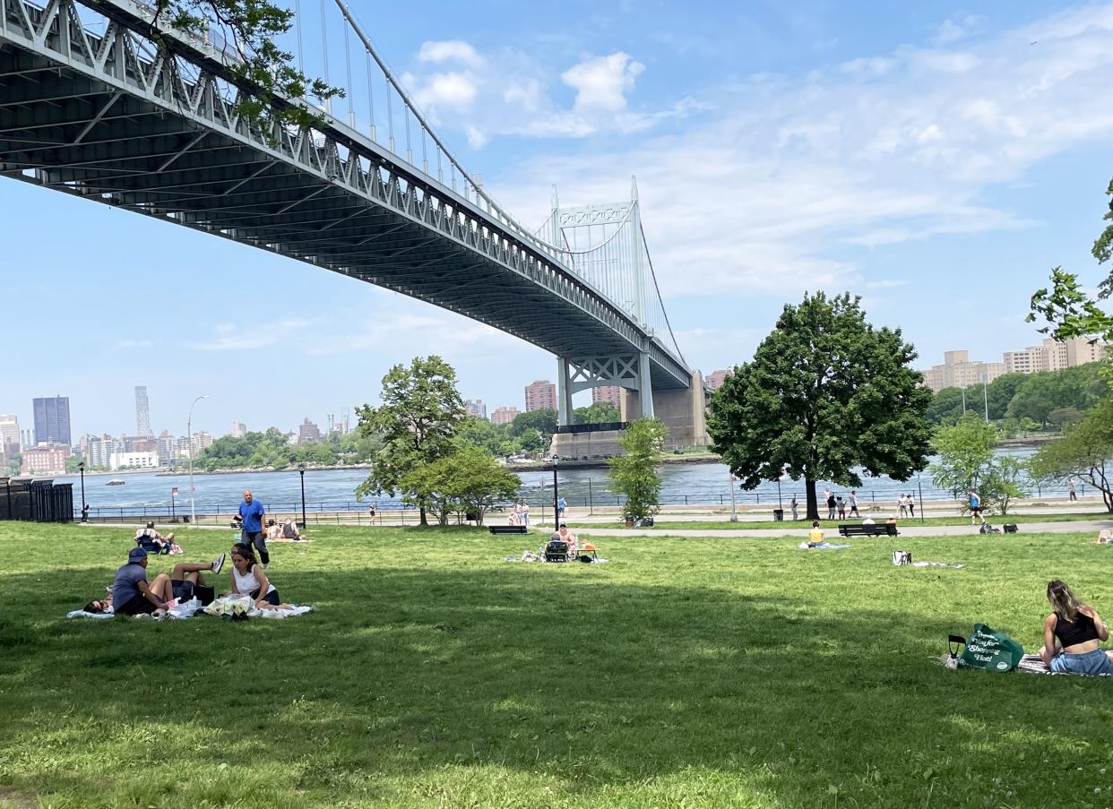
<path id="1" fill-rule="evenodd" d="M 434 131 L 343 0 L 317 0 L 319 19 L 302 1 L 282 45 L 345 95 L 315 105 L 311 125 L 266 128 L 239 111 L 242 55 L 218 26 L 173 29 L 134 0 L 0 0 L 0 175 L 515 335 L 556 356 L 562 425 L 573 393 L 618 385 L 630 417 L 663 416 L 698 437 L 702 385 L 661 302 L 636 184 L 621 204 L 579 208 L 561 208 L 554 190 L 546 221 L 519 223 Z"/>

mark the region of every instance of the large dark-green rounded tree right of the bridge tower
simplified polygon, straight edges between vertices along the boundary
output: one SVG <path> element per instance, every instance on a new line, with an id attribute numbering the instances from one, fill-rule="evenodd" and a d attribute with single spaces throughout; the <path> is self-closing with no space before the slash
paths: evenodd
<path id="1" fill-rule="evenodd" d="M 712 450 L 742 489 L 785 471 L 802 479 L 810 520 L 817 481 L 860 486 L 859 470 L 907 481 L 926 464 L 932 430 L 915 358 L 899 329 L 866 322 L 859 298 L 805 295 L 711 397 Z"/>

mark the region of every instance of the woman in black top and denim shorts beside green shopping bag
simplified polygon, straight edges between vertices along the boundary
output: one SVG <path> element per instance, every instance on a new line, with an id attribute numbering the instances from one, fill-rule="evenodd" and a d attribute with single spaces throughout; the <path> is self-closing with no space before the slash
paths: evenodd
<path id="1" fill-rule="evenodd" d="M 1113 652 L 1102 649 L 1110 632 L 1097 610 L 1082 604 L 1058 579 L 1047 582 L 1053 612 L 1044 619 L 1040 659 L 1052 671 L 1072 674 L 1113 674 Z"/>

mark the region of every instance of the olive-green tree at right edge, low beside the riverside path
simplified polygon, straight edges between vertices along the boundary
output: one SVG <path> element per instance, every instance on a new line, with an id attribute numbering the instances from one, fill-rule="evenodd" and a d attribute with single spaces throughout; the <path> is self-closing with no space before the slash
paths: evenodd
<path id="1" fill-rule="evenodd" d="M 1044 483 L 1078 477 L 1102 493 L 1113 512 L 1113 399 L 1086 413 L 1058 441 L 1044 444 L 1030 462 L 1032 476 Z"/>

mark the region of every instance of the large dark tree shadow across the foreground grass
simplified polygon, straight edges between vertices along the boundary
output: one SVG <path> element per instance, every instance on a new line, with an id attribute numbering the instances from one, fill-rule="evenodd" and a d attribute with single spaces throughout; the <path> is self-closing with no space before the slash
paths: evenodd
<path id="1" fill-rule="evenodd" d="M 68 767 L 0 764 L 0 782 L 112 805 L 121 787 L 82 763 L 96 728 L 120 778 L 136 763 L 184 778 L 230 752 L 272 766 L 268 800 L 292 806 L 417 803 L 436 785 L 483 803 L 462 785 L 484 777 L 532 805 L 679 789 L 708 805 L 1031 806 L 1048 771 L 1085 786 L 1078 747 L 1113 751 L 1105 683 L 945 671 L 928 655 L 954 624 L 918 610 L 602 573 L 289 570 L 279 588 L 317 613 L 162 624 L 43 621 L 73 604 L 40 576 L 4 576 L 18 606 L 0 618 L 0 747 L 49 744 Z M 166 734 L 193 743 L 161 754 L 150 740 Z M 159 806 L 206 798 L 204 781 L 165 789 Z"/>

